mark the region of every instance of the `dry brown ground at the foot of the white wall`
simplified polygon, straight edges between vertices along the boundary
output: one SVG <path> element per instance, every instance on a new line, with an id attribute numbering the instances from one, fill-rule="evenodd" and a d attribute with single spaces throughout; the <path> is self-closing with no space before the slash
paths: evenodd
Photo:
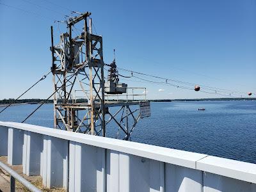
<path id="1" fill-rule="evenodd" d="M 0 157 L 0 161 L 4 164 L 7 164 L 7 157 L 6 156 Z M 12 168 L 12 170 L 14 170 L 15 172 L 19 173 L 19 175 L 21 175 L 22 177 L 24 177 L 24 179 L 31 182 L 31 184 L 36 186 L 36 188 L 40 189 L 41 191 L 54 191 L 54 192 L 66 191 L 65 189 L 59 189 L 59 188 L 58 189 L 57 188 L 56 189 L 44 188 L 43 184 L 42 184 L 42 177 L 24 175 L 22 173 L 22 165 L 13 165 L 13 166 L 10 166 L 10 168 Z M 15 184 L 16 184 L 16 191 L 18 191 L 18 192 L 29 191 L 24 186 L 22 186 L 22 184 L 20 184 L 20 182 L 18 182 L 17 180 L 15 180 Z M 7 172 L 5 172 L 4 170 L 0 169 L 0 192 L 1 191 L 3 191 L 3 192 L 10 191 L 10 175 Z"/>

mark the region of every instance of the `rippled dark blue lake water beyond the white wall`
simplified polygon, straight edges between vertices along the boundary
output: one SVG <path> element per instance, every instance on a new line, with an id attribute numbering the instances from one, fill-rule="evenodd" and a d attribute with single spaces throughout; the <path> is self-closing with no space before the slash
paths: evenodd
<path id="1" fill-rule="evenodd" d="M 12 106 L 0 120 L 20 122 L 36 106 Z M 45 104 L 27 123 L 52 127 L 52 110 Z M 256 163 L 256 101 L 151 102 L 151 113 L 132 141 Z"/>

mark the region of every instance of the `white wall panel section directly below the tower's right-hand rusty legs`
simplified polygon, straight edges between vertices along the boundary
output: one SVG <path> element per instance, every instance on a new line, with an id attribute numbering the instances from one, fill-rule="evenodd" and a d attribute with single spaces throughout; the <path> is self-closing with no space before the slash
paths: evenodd
<path id="1" fill-rule="evenodd" d="M 104 191 L 102 158 L 101 148 L 70 142 L 69 191 Z"/>

